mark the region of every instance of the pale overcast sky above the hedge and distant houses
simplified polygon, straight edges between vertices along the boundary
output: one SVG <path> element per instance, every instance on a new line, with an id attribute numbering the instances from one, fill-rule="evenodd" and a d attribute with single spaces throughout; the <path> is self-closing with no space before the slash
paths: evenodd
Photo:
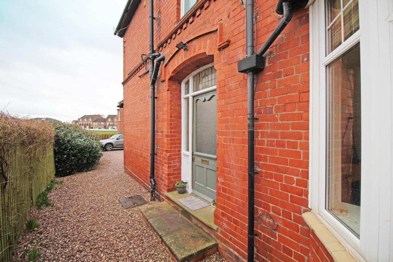
<path id="1" fill-rule="evenodd" d="M 123 99 L 127 0 L 0 0 L 0 110 L 71 122 Z M 7 105 L 8 104 L 8 105 Z"/>

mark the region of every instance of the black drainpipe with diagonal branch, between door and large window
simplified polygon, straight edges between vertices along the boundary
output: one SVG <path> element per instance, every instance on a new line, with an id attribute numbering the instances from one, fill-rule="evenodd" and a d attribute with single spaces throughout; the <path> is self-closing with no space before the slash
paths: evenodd
<path id="1" fill-rule="evenodd" d="M 283 31 L 285 26 L 292 19 L 292 5 L 296 8 L 304 7 L 307 0 L 279 0 L 276 8 L 276 13 L 284 14 L 283 19 L 279 22 L 273 33 L 269 36 L 257 54 L 254 54 L 253 46 L 253 12 L 254 0 L 247 0 L 246 5 L 246 57 L 237 62 L 239 72 L 247 73 L 247 96 L 248 96 L 248 245 L 247 245 L 247 261 L 254 261 L 254 237 L 258 236 L 254 232 L 254 175 L 259 172 L 254 171 L 254 74 L 263 70 L 265 58 L 263 55 L 268 48 L 277 39 L 279 34 Z"/>

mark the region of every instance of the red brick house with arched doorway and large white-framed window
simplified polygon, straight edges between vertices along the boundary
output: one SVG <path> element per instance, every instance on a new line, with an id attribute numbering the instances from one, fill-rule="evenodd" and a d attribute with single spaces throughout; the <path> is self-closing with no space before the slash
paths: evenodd
<path id="1" fill-rule="evenodd" d="M 242 2 L 154 0 L 154 50 L 165 55 L 155 86 L 156 197 L 171 201 L 182 179 L 188 193 L 216 198 L 207 230 L 232 261 L 248 256 Z M 255 74 L 255 260 L 392 261 L 393 5 L 308 5 L 294 11 Z M 276 6 L 254 3 L 254 52 L 282 19 Z M 140 58 L 149 53 L 148 21 L 148 1 L 129 0 L 116 31 L 124 168 L 146 188 L 150 79 Z"/>

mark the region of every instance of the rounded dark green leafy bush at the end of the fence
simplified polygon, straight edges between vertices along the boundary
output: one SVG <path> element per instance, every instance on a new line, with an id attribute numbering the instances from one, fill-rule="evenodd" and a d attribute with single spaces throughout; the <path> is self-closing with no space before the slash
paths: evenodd
<path id="1" fill-rule="evenodd" d="M 76 125 L 54 122 L 56 176 L 92 170 L 102 156 L 97 135 Z"/>

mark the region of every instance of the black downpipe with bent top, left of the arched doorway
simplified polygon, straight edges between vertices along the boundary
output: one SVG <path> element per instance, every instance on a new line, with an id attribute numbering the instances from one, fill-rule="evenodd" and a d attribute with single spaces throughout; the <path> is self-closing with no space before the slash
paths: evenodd
<path id="1" fill-rule="evenodd" d="M 165 61 L 165 55 L 153 54 L 152 57 L 157 57 L 156 65 L 152 72 L 150 81 L 150 201 L 154 201 L 156 197 L 156 179 L 154 178 L 154 164 L 156 159 L 155 144 L 156 144 L 156 96 L 155 85 L 158 75 L 158 70 L 162 61 Z M 151 59 L 152 61 L 152 59 Z"/>

